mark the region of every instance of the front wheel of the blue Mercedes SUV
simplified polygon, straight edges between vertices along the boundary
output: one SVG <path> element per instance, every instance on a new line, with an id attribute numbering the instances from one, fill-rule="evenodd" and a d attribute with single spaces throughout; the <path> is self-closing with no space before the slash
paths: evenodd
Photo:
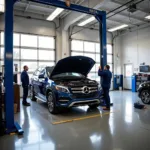
<path id="1" fill-rule="evenodd" d="M 55 95 L 52 92 L 49 92 L 47 96 L 47 105 L 49 112 L 52 114 L 58 113 L 58 108 L 56 107 L 55 100 Z"/>

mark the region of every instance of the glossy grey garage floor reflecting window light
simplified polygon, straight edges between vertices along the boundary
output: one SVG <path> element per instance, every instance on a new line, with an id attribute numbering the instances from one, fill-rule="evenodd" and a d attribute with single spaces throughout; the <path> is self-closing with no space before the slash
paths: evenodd
<path id="1" fill-rule="evenodd" d="M 24 136 L 0 138 L 0 150 L 150 150 L 150 107 L 134 109 L 139 99 L 128 91 L 111 92 L 111 100 L 111 113 L 80 107 L 56 116 L 45 104 L 32 102 L 15 116 Z M 52 125 L 72 118 L 77 120 Z"/>

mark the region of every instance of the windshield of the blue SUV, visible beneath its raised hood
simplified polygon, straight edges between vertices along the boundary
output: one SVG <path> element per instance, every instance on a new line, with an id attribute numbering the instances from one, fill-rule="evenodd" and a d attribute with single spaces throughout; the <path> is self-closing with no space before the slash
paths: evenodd
<path id="1" fill-rule="evenodd" d="M 64 78 L 64 77 L 66 77 L 66 78 L 70 78 L 70 77 L 72 77 L 72 78 L 84 78 L 84 76 L 82 75 L 82 74 L 80 74 L 80 73 L 75 73 L 75 72 L 67 72 L 67 73 L 61 73 L 61 74 L 58 74 L 58 75 L 55 75 L 55 76 L 53 76 L 53 78 Z"/>

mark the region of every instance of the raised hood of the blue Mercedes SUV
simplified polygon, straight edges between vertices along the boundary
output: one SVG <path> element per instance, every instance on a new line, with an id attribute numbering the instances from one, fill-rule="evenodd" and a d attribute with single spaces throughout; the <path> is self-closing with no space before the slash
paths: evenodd
<path id="1" fill-rule="evenodd" d="M 84 76 L 90 72 L 94 66 L 95 61 L 92 58 L 85 56 L 71 56 L 58 61 L 53 71 L 51 72 L 50 78 L 55 75 L 67 72 L 80 73 Z"/>

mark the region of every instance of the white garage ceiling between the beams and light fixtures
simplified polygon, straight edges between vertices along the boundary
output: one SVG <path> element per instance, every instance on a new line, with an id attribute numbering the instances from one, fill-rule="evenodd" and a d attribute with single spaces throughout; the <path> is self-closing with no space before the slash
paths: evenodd
<path id="1" fill-rule="evenodd" d="M 82 5 L 85 1 L 87 0 L 71 0 L 72 3 Z M 99 0 L 99 2 L 102 0 Z M 103 0 L 105 1 L 105 0 Z M 105 3 L 100 10 L 105 10 L 107 12 L 118 8 L 119 6 L 125 4 L 126 2 L 129 2 L 131 0 L 107 0 L 107 3 Z M 139 2 L 140 0 L 134 0 L 134 2 Z M 92 2 L 92 0 L 91 0 Z M 89 0 L 89 5 L 90 5 L 90 0 Z M 107 15 L 107 17 L 110 17 L 107 19 L 107 28 L 115 27 L 121 24 L 128 24 L 130 27 L 136 26 L 136 25 L 141 25 L 144 23 L 147 23 L 147 20 L 144 19 L 146 15 L 150 12 L 150 0 L 144 0 L 143 2 L 137 4 L 137 11 L 134 13 L 129 13 L 127 11 L 127 7 L 129 5 L 126 5 L 118 10 L 116 10 L 113 13 L 110 13 Z M 41 15 L 43 19 L 45 19 L 48 15 L 50 15 L 54 10 L 55 7 L 53 6 L 47 6 L 47 5 L 42 5 L 42 4 L 37 4 L 33 3 L 27 0 L 20 0 L 15 4 L 15 13 L 17 12 L 22 12 L 24 15 L 34 13 Z M 114 13 L 117 13 L 118 11 L 121 11 L 122 9 L 126 9 L 116 15 Z M 64 19 L 68 17 L 68 15 L 71 13 L 71 11 L 65 10 L 63 11 L 58 18 Z M 112 16 L 114 15 L 114 16 Z M 83 16 L 75 22 L 73 25 L 76 25 L 78 22 L 85 20 L 89 16 Z M 87 26 L 90 26 L 94 22 L 88 24 Z M 96 23 L 96 21 L 95 21 Z"/>

